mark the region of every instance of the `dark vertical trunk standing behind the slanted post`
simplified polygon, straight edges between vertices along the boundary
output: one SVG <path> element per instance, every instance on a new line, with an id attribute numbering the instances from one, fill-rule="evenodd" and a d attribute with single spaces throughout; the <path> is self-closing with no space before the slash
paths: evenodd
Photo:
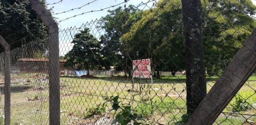
<path id="1" fill-rule="evenodd" d="M 202 8 L 200 0 L 182 0 L 186 62 L 187 114 L 206 96 Z"/>

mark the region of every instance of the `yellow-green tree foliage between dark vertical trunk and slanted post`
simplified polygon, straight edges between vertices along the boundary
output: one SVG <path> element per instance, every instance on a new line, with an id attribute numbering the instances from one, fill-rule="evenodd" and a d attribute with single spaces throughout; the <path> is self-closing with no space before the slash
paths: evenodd
<path id="1" fill-rule="evenodd" d="M 207 74 L 220 75 L 256 27 L 250 16 L 256 6 L 251 0 L 205 0 L 202 7 Z"/>

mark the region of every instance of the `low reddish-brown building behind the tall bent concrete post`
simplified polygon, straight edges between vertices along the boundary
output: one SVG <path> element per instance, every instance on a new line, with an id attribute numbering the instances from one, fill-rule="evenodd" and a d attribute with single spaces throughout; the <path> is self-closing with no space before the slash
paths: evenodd
<path id="1" fill-rule="evenodd" d="M 66 59 L 59 61 L 60 69 L 64 70 L 64 62 Z M 48 72 L 49 59 L 44 58 L 19 58 L 15 67 L 20 69 L 20 72 Z"/>

